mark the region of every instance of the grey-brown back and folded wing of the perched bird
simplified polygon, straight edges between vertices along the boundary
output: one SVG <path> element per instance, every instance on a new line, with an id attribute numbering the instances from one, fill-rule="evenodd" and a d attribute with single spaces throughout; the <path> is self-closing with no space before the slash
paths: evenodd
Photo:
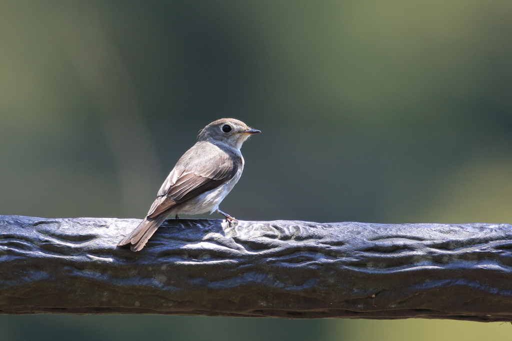
<path id="1" fill-rule="evenodd" d="M 198 142 L 183 154 L 167 176 L 147 217 L 154 218 L 231 179 L 238 171 L 233 162 L 235 157 L 211 143 Z"/>

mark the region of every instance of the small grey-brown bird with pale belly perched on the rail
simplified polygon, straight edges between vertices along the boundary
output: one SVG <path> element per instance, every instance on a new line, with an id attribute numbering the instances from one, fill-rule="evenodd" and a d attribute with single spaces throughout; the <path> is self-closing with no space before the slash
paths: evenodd
<path id="1" fill-rule="evenodd" d="M 218 212 L 231 224 L 237 219 L 219 204 L 237 184 L 244 169 L 242 144 L 255 133 L 242 121 L 220 119 L 199 131 L 197 143 L 178 160 L 163 182 L 150 211 L 118 246 L 140 251 L 169 215 Z"/>

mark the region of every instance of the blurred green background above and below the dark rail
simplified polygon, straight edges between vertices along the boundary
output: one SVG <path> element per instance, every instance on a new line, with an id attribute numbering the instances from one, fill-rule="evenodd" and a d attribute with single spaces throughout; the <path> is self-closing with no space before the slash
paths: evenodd
<path id="1" fill-rule="evenodd" d="M 199 129 L 244 220 L 512 222 L 512 2 L 0 2 L 0 214 L 142 218 Z M 220 216 L 206 216 L 219 218 Z M 0 315 L 0 340 L 480 340 L 455 321 Z"/>

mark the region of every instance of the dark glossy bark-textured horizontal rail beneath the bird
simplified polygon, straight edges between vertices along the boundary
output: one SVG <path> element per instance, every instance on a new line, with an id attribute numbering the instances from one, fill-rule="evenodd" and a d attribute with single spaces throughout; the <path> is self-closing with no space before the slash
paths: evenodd
<path id="1" fill-rule="evenodd" d="M 512 226 L 0 216 L 0 313 L 512 321 Z"/>

